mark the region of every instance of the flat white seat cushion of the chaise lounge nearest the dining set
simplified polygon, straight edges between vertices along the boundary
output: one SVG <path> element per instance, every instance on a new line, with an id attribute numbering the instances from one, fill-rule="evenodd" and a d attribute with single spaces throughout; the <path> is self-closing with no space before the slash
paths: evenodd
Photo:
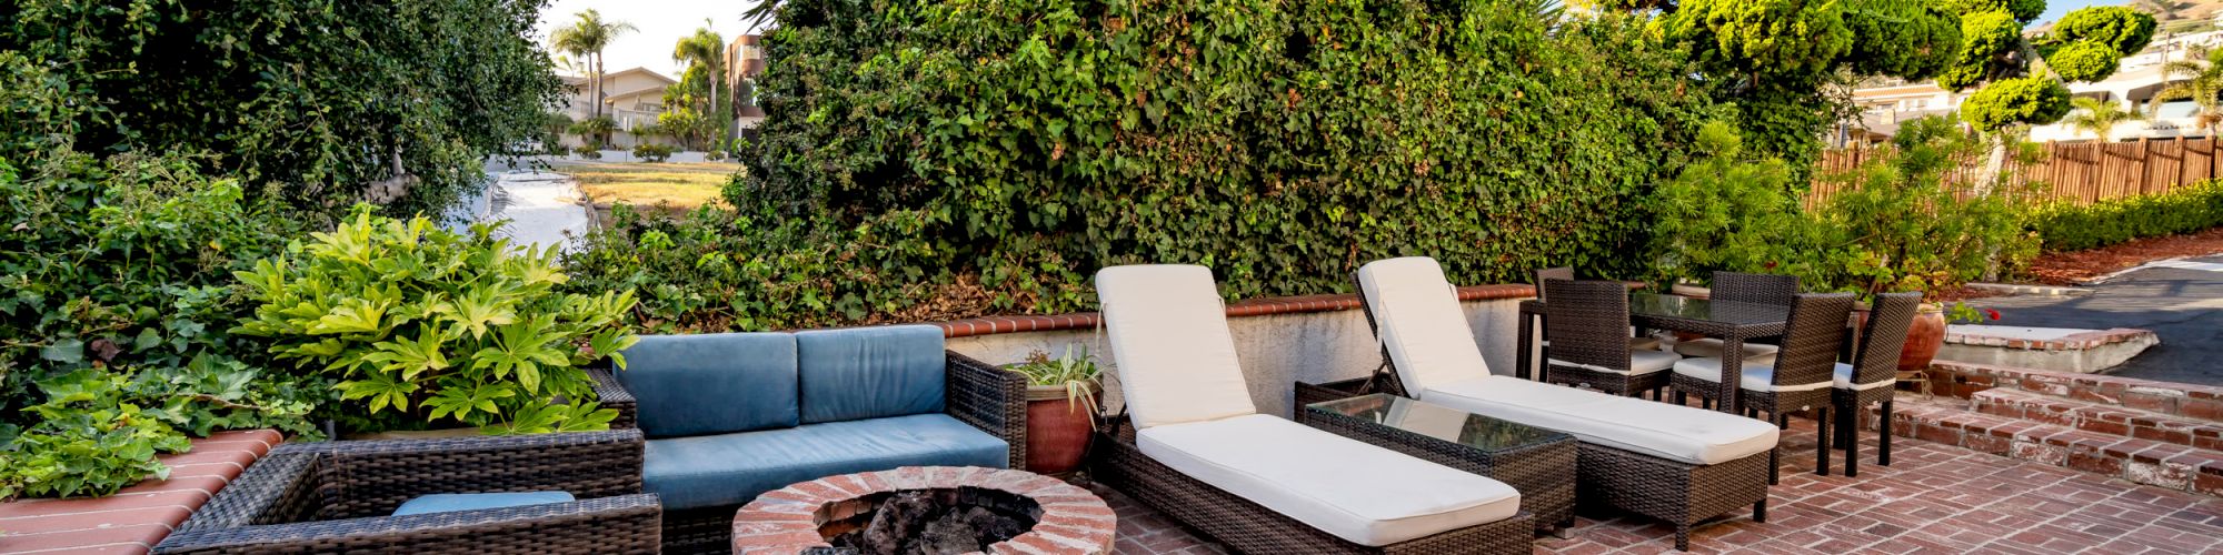
<path id="1" fill-rule="evenodd" d="M 1721 464 L 1776 446 L 1776 426 L 1741 415 L 1492 375 L 1420 391 L 1423 402 L 1552 428 L 1687 464 Z"/>

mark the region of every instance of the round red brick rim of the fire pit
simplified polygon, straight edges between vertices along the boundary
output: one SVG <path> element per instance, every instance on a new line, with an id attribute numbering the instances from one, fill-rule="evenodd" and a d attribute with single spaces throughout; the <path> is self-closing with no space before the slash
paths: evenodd
<path id="1" fill-rule="evenodd" d="M 756 495 L 734 515 L 734 553 L 803 553 L 827 546 L 818 526 L 856 515 L 847 504 L 865 495 L 907 488 L 991 488 L 1043 506 L 1034 528 L 987 546 L 987 553 L 1112 553 L 1118 517 L 1096 493 L 1056 477 L 980 466 L 903 466 L 878 473 L 820 477 Z"/>

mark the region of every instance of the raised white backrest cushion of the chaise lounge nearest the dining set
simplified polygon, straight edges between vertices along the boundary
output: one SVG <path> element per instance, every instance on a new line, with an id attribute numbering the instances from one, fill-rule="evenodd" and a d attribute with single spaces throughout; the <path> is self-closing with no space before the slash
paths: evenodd
<path id="1" fill-rule="evenodd" d="M 1358 266 L 1358 293 L 1367 297 L 1376 335 L 1405 389 L 1489 375 L 1467 313 L 1458 309 L 1458 291 L 1434 258 L 1367 262 Z"/>

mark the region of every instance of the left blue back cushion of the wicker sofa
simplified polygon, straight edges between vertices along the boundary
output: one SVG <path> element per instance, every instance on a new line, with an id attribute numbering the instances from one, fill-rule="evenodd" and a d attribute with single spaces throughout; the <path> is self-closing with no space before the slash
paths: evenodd
<path id="1" fill-rule="evenodd" d="M 680 437 L 796 426 L 796 335 L 642 335 L 618 382 L 640 433 Z"/>

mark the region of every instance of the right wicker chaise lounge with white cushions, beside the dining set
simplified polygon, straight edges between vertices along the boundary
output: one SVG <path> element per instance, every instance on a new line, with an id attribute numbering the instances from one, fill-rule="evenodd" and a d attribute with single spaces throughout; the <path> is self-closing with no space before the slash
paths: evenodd
<path id="1" fill-rule="evenodd" d="M 1752 506 L 1767 519 L 1767 422 L 1645 402 L 1509 375 L 1492 375 L 1458 295 L 1432 258 L 1378 260 L 1358 269 L 1367 322 L 1383 342 L 1387 373 L 1338 384 L 1298 384 L 1298 402 L 1383 391 L 1476 415 L 1554 428 L 1581 440 L 1578 500 L 1689 528 Z"/>

